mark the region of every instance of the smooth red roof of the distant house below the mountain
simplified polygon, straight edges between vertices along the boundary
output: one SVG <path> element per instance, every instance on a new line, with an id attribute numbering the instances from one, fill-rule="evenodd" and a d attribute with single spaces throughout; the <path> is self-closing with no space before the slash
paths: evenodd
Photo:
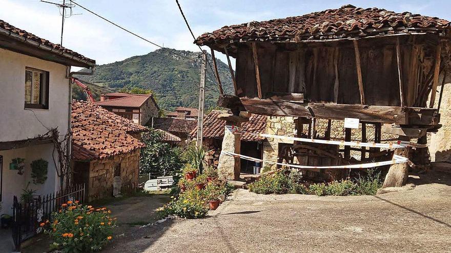
<path id="1" fill-rule="evenodd" d="M 127 93 L 109 93 L 105 96 L 116 96 L 120 98 L 109 99 L 105 101 L 95 102 L 96 105 L 100 106 L 115 106 L 115 107 L 141 107 L 142 104 L 146 103 L 148 99 L 153 99 L 150 94 L 127 94 Z M 155 104 L 157 104 L 155 102 Z M 157 105 L 158 106 L 158 105 Z"/>

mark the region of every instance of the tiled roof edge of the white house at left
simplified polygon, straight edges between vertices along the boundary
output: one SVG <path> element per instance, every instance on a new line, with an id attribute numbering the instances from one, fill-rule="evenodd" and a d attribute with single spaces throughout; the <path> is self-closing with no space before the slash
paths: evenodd
<path id="1" fill-rule="evenodd" d="M 6 30 L 6 31 L 11 32 L 11 33 L 13 33 L 15 35 L 19 35 L 20 37 L 23 37 L 23 38 L 28 39 L 28 40 L 32 40 L 32 41 L 37 42 L 39 44 L 46 45 L 47 47 L 52 48 L 53 50 L 64 52 L 64 53 L 66 53 L 68 55 L 75 56 L 77 58 L 80 58 L 81 60 L 85 60 L 85 61 L 88 61 L 90 63 L 95 64 L 95 60 L 89 59 L 88 57 L 80 55 L 77 52 L 74 52 L 74 51 L 72 51 L 70 49 L 61 47 L 61 45 L 59 45 L 59 44 L 54 44 L 54 43 L 52 43 L 52 42 L 50 42 L 50 41 L 48 41 L 46 39 L 39 38 L 38 36 L 36 36 L 36 35 L 34 35 L 32 33 L 29 33 L 29 32 L 27 32 L 25 30 L 16 28 L 14 26 L 11 26 L 10 24 L 8 24 L 7 22 L 5 22 L 3 20 L 0 20 L 0 29 Z M 58 53 L 55 52 L 55 54 L 58 54 Z"/>

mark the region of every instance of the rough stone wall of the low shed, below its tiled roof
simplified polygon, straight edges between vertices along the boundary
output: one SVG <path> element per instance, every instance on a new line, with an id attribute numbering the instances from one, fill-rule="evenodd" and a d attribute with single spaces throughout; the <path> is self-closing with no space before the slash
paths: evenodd
<path id="1" fill-rule="evenodd" d="M 133 191 L 138 187 L 140 150 L 94 160 L 90 163 L 89 201 L 113 196 L 114 170 L 120 165 L 121 191 Z"/>

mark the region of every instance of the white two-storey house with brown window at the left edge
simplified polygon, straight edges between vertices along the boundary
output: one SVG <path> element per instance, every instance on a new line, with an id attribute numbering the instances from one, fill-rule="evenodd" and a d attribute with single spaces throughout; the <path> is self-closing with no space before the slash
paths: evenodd
<path id="1" fill-rule="evenodd" d="M 53 143 L 38 136 L 70 131 L 71 66 L 92 71 L 95 61 L 0 20 L 0 214 L 12 213 L 13 196 L 28 182 L 36 195 L 59 189 Z M 25 159 L 22 175 L 15 158 Z M 48 162 L 47 179 L 35 185 L 30 164 L 40 158 Z"/>

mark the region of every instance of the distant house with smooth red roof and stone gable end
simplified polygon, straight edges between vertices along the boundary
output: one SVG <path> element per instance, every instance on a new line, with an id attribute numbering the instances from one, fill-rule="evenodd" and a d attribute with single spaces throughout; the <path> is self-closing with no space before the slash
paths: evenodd
<path id="1" fill-rule="evenodd" d="M 151 122 L 152 118 L 158 117 L 160 110 L 151 94 L 102 94 L 100 101 L 95 104 L 142 126 Z"/>

